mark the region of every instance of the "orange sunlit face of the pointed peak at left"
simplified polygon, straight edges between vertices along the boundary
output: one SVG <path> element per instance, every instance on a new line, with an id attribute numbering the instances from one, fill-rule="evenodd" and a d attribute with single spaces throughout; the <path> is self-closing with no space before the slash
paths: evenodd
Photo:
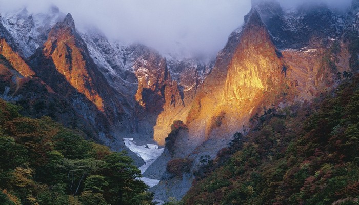
<path id="1" fill-rule="evenodd" d="M 104 102 L 94 86 L 93 77 L 90 69 L 86 68 L 86 59 L 83 57 L 85 52 L 78 46 L 74 34 L 75 27 L 73 19 L 68 14 L 64 22 L 57 25 L 49 33 L 49 38 L 44 44 L 43 53 L 47 58 L 51 58 L 56 70 L 61 73 L 66 80 L 79 93 L 82 93 L 98 110 L 104 111 Z"/>

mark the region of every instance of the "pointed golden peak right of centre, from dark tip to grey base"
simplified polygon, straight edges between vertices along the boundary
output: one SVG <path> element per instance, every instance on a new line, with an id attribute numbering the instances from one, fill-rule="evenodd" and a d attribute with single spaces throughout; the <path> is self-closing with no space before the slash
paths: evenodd
<path id="1" fill-rule="evenodd" d="M 239 33 L 240 37 L 230 38 L 190 104 L 186 124 L 197 145 L 209 139 L 229 139 L 247 124 L 263 94 L 273 91 L 285 76 L 282 54 L 256 10 Z"/>

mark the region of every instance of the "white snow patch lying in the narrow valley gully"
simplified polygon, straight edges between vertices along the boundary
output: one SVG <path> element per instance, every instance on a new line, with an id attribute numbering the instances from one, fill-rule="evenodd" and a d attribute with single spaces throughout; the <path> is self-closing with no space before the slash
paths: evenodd
<path id="1" fill-rule="evenodd" d="M 147 168 L 159 157 L 165 148 L 158 149 L 158 145 L 147 144 L 147 145 L 136 145 L 136 142 L 133 141 L 133 138 L 124 138 L 124 143 L 128 149 L 134 152 L 137 156 L 141 157 L 144 160 L 144 165 L 139 167 L 141 174 L 143 174 Z M 158 185 L 158 179 L 150 179 L 147 177 L 140 178 L 143 182 L 146 183 L 149 187 Z"/>

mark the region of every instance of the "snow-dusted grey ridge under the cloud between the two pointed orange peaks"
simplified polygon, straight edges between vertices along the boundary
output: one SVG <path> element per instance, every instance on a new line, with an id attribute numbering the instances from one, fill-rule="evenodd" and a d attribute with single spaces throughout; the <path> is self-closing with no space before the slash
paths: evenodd
<path id="1" fill-rule="evenodd" d="M 165 58 L 171 79 L 176 80 L 180 89 L 184 91 L 189 91 L 201 84 L 211 72 L 212 64 L 214 64 L 214 62 L 205 63 L 196 58 L 186 58 L 170 53 L 160 54 L 141 44 L 125 45 L 118 40 L 108 39 L 96 28 L 88 28 L 80 35 L 87 44 L 90 56 L 102 73 L 105 76 L 110 76 L 111 81 L 114 82 L 111 85 L 115 89 L 123 87 L 122 84 L 138 83 L 141 78 L 149 79 L 151 76 L 156 79 L 146 68 L 146 66 L 154 66 L 148 55 Z M 136 67 L 137 63 L 141 63 L 144 67 Z M 157 66 L 161 66 L 161 64 Z M 127 76 L 134 76 L 133 74 L 136 79 L 127 78 Z"/>

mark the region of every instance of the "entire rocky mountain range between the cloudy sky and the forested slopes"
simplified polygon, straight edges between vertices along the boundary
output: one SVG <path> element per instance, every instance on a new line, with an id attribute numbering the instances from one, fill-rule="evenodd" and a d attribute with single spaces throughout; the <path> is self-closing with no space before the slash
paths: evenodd
<path id="1" fill-rule="evenodd" d="M 143 176 L 161 179 L 150 189 L 157 199 L 181 199 L 233 134 L 256 129 L 269 110 L 321 100 L 357 75 L 358 5 L 344 14 L 324 4 L 287 11 L 252 1 L 244 25 L 209 63 L 80 32 L 55 7 L 21 10 L 0 17 L 0 96 L 26 116 L 50 116 L 127 150 L 137 166 L 144 161 L 124 138 L 163 146 Z"/>

